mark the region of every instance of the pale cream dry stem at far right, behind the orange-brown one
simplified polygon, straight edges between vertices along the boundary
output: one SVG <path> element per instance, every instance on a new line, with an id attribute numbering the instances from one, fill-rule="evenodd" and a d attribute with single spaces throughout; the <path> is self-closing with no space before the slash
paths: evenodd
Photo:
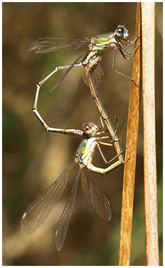
<path id="1" fill-rule="evenodd" d="M 146 265 L 159 265 L 155 144 L 155 3 L 141 3 Z M 150 34 L 150 30 L 152 34 Z"/>

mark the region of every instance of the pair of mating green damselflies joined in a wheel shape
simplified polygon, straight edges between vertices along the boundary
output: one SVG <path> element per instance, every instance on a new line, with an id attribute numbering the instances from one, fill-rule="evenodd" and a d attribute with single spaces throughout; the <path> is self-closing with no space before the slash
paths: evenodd
<path id="1" fill-rule="evenodd" d="M 98 54 L 109 47 L 113 47 L 113 69 L 116 70 L 116 49 L 120 51 L 120 53 L 125 59 L 132 59 L 131 55 L 139 47 L 138 45 L 134 48 L 134 50 L 132 50 L 132 52 L 128 52 L 123 46 L 123 44 L 127 46 L 133 45 L 137 38 L 131 42 L 127 40 L 127 36 L 127 29 L 123 25 L 119 25 L 115 32 L 96 36 L 95 38 L 91 39 L 40 38 L 29 47 L 29 51 L 36 51 L 37 53 L 46 53 L 53 52 L 55 50 L 61 50 L 70 46 L 73 47 L 72 50 L 77 50 L 79 47 L 89 43 L 88 48 L 72 64 L 56 67 L 52 71 L 52 73 L 47 75 L 45 79 L 38 83 L 36 97 L 33 103 L 33 112 L 35 112 L 40 123 L 46 131 L 62 133 L 66 135 L 74 135 L 82 138 L 81 144 L 79 145 L 79 148 L 77 149 L 77 152 L 74 156 L 73 163 L 71 163 L 68 168 L 66 168 L 61 173 L 61 175 L 56 179 L 56 181 L 54 181 L 54 183 L 51 184 L 47 188 L 47 190 L 45 190 L 42 195 L 40 195 L 39 198 L 29 206 L 28 209 L 26 209 L 22 218 L 23 232 L 26 234 L 34 232 L 45 221 L 47 216 L 49 216 L 52 209 L 54 209 L 54 206 L 61 197 L 65 185 L 67 184 L 70 172 L 74 167 L 75 163 L 77 163 L 79 165 L 79 171 L 77 173 L 77 177 L 74 179 L 74 184 L 72 186 L 70 197 L 68 198 L 68 202 L 63 209 L 63 213 L 58 222 L 58 227 L 56 230 L 56 248 L 58 249 L 58 251 L 61 250 L 61 247 L 63 246 L 63 242 L 65 240 L 65 235 L 68 231 L 68 225 L 70 223 L 74 200 L 77 194 L 77 184 L 79 178 L 81 179 L 81 186 L 84 191 L 84 194 L 91 198 L 93 207 L 95 208 L 97 213 L 102 218 L 104 218 L 104 220 L 109 221 L 111 219 L 111 208 L 109 200 L 107 200 L 106 196 L 102 192 L 102 189 L 93 179 L 91 172 L 106 174 L 114 168 L 117 168 L 119 165 L 124 164 L 125 158 L 123 155 L 123 149 L 120 144 L 120 138 L 116 133 L 117 127 L 113 127 L 113 124 L 111 123 L 111 120 L 109 119 L 109 116 L 97 94 L 96 88 L 99 86 L 99 84 L 102 82 L 102 79 L 104 78 L 104 73 L 102 71 L 102 68 L 100 67 L 101 57 L 99 57 Z M 86 56 L 84 57 L 85 54 Z M 78 62 L 82 57 L 84 57 L 84 59 Z M 86 84 L 91 90 L 91 95 L 93 96 L 98 110 L 100 111 L 100 116 L 102 118 L 101 122 L 103 120 L 107 126 L 106 131 L 102 131 L 102 128 L 104 126 L 103 122 L 101 128 L 98 128 L 95 124 L 89 122 L 88 124 L 84 125 L 83 131 L 75 129 L 50 128 L 40 116 L 40 113 L 37 110 L 40 87 L 45 81 L 49 79 L 49 77 L 54 75 L 54 73 L 56 73 L 58 70 L 66 69 L 52 87 L 52 90 L 55 89 L 59 82 L 63 80 L 65 75 L 72 67 L 83 68 L 84 82 L 86 82 Z M 127 77 L 127 75 L 124 76 Z M 136 82 L 131 77 L 129 78 L 132 80 L 132 82 L 134 82 L 134 84 L 136 84 Z M 103 133 L 107 131 L 109 131 L 109 135 L 104 136 Z M 104 154 L 102 153 L 102 150 L 100 149 L 100 144 L 109 147 L 114 147 L 116 149 L 116 157 L 114 157 L 111 161 L 107 161 L 104 157 Z M 97 149 L 100 151 L 104 162 L 108 165 L 107 168 L 99 168 L 93 165 L 92 160 L 95 147 L 97 147 Z M 118 158 L 118 161 L 116 161 L 115 163 L 111 163 L 115 158 Z M 111 165 L 109 165 L 110 163 Z"/>

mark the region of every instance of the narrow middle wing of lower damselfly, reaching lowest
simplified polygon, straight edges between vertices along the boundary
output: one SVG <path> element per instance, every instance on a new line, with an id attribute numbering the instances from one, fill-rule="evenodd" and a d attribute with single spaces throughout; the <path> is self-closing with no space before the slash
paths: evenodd
<path id="1" fill-rule="evenodd" d="M 56 248 L 58 251 L 61 251 L 61 248 L 63 246 L 63 242 L 65 240 L 66 233 L 68 231 L 68 226 L 70 223 L 70 217 L 72 215 L 72 209 L 74 207 L 74 201 L 77 194 L 77 185 L 79 180 L 79 174 L 80 169 L 77 173 L 77 177 L 74 180 L 74 184 L 72 186 L 72 191 L 70 193 L 70 197 L 68 198 L 68 202 L 65 205 L 65 208 L 63 209 L 63 213 L 61 215 L 61 218 L 58 222 L 57 230 L 56 230 Z"/>

